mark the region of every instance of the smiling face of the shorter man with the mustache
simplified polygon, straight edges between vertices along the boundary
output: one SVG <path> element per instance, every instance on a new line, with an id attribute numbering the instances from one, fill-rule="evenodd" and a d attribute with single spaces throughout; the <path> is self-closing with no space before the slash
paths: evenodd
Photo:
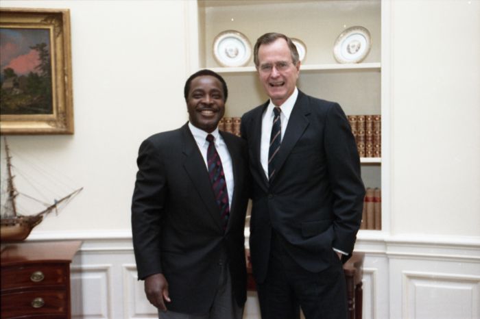
<path id="1" fill-rule="evenodd" d="M 187 96 L 189 120 L 193 126 L 213 132 L 225 113 L 221 82 L 211 75 L 200 75 L 191 81 Z"/>

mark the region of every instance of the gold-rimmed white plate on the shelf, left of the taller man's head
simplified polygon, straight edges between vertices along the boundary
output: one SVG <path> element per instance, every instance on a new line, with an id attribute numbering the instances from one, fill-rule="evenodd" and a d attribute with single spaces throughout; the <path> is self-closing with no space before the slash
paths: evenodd
<path id="1" fill-rule="evenodd" d="M 252 57 L 252 45 L 239 31 L 223 31 L 213 40 L 213 57 L 221 66 L 244 66 Z"/>

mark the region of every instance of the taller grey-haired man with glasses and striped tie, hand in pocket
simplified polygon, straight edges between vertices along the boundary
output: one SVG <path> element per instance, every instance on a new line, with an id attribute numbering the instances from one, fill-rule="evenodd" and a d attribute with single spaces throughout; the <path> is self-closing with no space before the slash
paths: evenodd
<path id="1" fill-rule="evenodd" d="M 250 254 L 262 318 L 346 318 L 341 261 L 351 255 L 365 188 L 337 103 L 300 92 L 300 61 L 283 34 L 265 34 L 254 62 L 269 101 L 243 115 L 252 173 Z"/>

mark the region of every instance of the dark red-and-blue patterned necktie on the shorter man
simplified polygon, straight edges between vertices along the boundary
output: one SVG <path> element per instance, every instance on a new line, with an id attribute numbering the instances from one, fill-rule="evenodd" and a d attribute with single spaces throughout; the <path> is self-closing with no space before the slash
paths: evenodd
<path id="1" fill-rule="evenodd" d="M 215 148 L 214 138 L 212 134 L 206 136 L 208 141 L 208 149 L 206 151 L 206 162 L 208 165 L 208 175 L 212 183 L 215 200 L 220 208 L 220 217 L 223 222 L 224 229 L 227 227 L 228 215 L 230 214 L 230 205 L 228 205 L 228 191 L 224 174 L 224 168 L 221 166 L 221 159 Z"/>

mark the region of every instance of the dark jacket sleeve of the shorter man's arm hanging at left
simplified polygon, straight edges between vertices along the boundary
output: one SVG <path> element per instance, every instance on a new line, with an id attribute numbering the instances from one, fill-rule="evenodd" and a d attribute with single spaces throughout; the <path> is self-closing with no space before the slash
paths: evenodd
<path id="1" fill-rule="evenodd" d="M 166 177 L 160 151 L 145 140 L 137 158 L 132 197 L 132 238 L 139 279 L 162 272 L 160 240 L 165 208 Z"/>

